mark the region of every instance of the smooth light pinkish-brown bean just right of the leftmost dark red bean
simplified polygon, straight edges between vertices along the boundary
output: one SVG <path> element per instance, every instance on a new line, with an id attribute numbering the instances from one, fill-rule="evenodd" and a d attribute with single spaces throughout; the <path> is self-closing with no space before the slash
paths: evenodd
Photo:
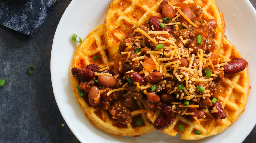
<path id="1" fill-rule="evenodd" d="M 117 85 L 117 79 L 114 76 L 101 75 L 98 77 L 99 84 L 105 87 L 114 87 Z"/>

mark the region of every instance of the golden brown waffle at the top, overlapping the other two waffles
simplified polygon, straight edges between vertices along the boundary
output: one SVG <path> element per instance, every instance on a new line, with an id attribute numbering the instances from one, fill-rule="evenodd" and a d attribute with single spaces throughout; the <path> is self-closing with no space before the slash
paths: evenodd
<path id="1" fill-rule="evenodd" d="M 148 20 L 151 16 L 158 16 L 158 6 L 162 0 L 113 0 L 109 5 L 106 12 L 106 18 L 104 21 L 104 35 L 110 55 L 114 60 L 118 60 L 119 43 L 123 40 L 126 34 L 134 26 L 144 24 L 145 20 Z M 215 43 L 217 48 L 213 53 L 218 55 L 222 39 L 224 35 L 224 23 L 223 16 L 217 8 L 214 0 L 171 0 L 172 4 L 177 3 L 193 3 L 196 2 L 199 7 L 203 9 L 202 19 L 217 20 L 218 26 L 215 29 L 217 34 L 215 36 Z"/>

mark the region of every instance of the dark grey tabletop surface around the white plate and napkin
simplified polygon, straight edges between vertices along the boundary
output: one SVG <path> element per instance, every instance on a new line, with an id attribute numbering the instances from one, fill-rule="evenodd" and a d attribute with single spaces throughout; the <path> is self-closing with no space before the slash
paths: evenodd
<path id="1" fill-rule="evenodd" d="M 250 1 L 255 8 L 256 0 Z M 0 86 L 0 143 L 79 142 L 59 112 L 50 77 L 54 33 L 70 2 L 60 0 L 32 37 L 0 25 L 0 79 L 6 78 Z M 243 143 L 255 140 L 256 127 Z"/>

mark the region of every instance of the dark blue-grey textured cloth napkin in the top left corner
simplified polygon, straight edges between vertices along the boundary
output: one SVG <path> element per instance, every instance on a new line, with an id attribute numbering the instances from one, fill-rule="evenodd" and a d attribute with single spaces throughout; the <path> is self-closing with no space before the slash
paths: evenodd
<path id="1" fill-rule="evenodd" d="M 0 24 L 33 36 L 58 0 L 0 0 Z"/>

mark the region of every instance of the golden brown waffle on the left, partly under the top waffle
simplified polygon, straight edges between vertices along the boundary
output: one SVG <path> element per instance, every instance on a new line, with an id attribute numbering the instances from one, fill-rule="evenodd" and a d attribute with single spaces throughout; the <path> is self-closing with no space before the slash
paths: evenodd
<path id="1" fill-rule="evenodd" d="M 99 58 L 93 61 L 92 58 L 96 55 L 99 55 Z M 86 68 L 86 65 L 88 64 L 102 66 L 106 63 L 113 64 L 113 59 L 108 53 L 103 35 L 103 24 L 101 24 L 100 26 L 96 27 L 77 47 L 72 60 L 71 68 Z M 136 118 L 144 121 L 141 126 L 137 127 L 133 123 L 128 126 L 120 123 L 117 119 L 112 119 L 108 111 L 103 111 L 97 107 L 91 106 L 88 102 L 88 96 L 85 95 L 82 98 L 79 96 L 76 89 L 76 86 L 80 84 L 79 81 L 75 79 L 71 73 L 70 77 L 71 87 L 75 95 L 75 99 L 87 119 L 94 126 L 116 136 L 140 136 L 155 130 L 153 124 L 147 119 L 146 113 L 134 114 L 135 116 L 132 116 L 133 121 Z M 145 109 L 140 101 L 137 101 L 137 104 L 139 107 L 138 110 Z"/>

